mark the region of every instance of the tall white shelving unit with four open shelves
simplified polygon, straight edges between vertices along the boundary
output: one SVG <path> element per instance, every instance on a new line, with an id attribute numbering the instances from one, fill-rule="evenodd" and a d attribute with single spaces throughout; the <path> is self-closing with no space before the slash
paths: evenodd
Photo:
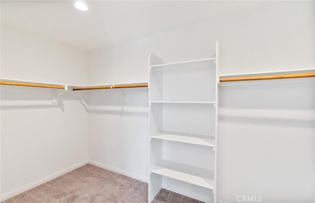
<path id="1" fill-rule="evenodd" d="M 218 53 L 166 63 L 151 54 L 149 203 L 161 188 L 216 202 Z"/>

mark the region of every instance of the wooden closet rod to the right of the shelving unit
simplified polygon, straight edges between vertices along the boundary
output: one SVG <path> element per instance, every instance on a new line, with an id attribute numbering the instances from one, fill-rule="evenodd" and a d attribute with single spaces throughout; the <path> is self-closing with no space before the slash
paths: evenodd
<path id="1" fill-rule="evenodd" d="M 274 79 L 289 79 L 289 78 L 311 78 L 315 77 L 315 73 L 302 73 L 291 75 L 271 75 L 258 77 L 244 77 L 244 78 L 221 78 L 220 82 L 238 82 L 238 81 L 253 81 L 253 80 L 274 80 Z"/>

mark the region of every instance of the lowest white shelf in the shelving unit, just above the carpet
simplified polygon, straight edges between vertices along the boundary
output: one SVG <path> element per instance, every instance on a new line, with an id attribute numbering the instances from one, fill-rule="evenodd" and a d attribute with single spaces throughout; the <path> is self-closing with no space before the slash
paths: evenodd
<path id="1" fill-rule="evenodd" d="M 214 189 L 214 181 L 206 178 L 202 178 L 196 175 L 191 175 L 191 174 L 185 174 L 182 172 L 170 170 L 170 169 L 165 169 L 165 168 L 158 168 L 150 171 L 151 173 L 154 174 L 159 174 L 163 175 L 166 177 L 174 178 L 177 180 L 181 180 L 193 185 L 197 185 L 200 187 L 208 188 L 213 190 Z"/>

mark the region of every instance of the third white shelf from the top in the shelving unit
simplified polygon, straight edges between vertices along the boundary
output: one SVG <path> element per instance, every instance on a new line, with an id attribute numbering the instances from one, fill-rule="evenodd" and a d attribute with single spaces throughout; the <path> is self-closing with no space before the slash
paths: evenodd
<path id="1" fill-rule="evenodd" d="M 201 139 L 201 138 L 182 136 L 182 135 L 160 134 L 160 135 L 151 136 L 150 138 L 174 141 L 174 142 L 179 142 L 179 143 L 188 143 L 192 145 L 203 145 L 203 146 L 212 146 L 212 147 L 215 146 L 215 140 Z"/>

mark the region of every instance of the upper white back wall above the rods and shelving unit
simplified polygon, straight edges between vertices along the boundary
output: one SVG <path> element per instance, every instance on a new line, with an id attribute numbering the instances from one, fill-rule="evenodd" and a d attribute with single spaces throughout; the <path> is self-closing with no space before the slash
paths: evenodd
<path id="1" fill-rule="evenodd" d="M 89 56 L 89 83 L 147 81 L 150 53 L 167 62 L 209 58 L 215 41 L 220 42 L 220 75 L 313 68 L 313 4 L 284 1 L 95 50 Z"/>

